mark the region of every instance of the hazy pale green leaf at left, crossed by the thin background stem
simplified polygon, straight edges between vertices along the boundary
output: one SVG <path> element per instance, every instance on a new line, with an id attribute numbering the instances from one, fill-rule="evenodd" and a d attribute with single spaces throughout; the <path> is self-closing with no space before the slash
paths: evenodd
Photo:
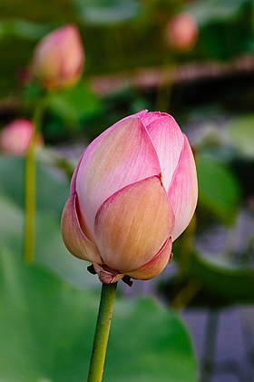
<path id="1" fill-rule="evenodd" d="M 0 249 L 23 253 L 24 162 L 19 158 L 0 159 Z M 94 288 L 97 279 L 87 272 L 87 263 L 66 250 L 60 231 L 60 217 L 69 196 L 69 181 L 46 166 L 37 168 L 37 216 L 35 261 L 54 270 L 80 288 Z"/>

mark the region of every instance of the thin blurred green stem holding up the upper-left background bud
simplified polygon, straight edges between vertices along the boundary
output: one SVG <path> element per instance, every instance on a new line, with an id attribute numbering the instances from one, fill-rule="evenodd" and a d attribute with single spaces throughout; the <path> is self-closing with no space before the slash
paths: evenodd
<path id="1" fill-rule="evenodd" d="M 44 101 L 34 113 L 34 135 L 25 156 L 24 169 L 24 262 L 34 261 L 35 215 L 36 215 L 36 145 L 41 131 Z"/>

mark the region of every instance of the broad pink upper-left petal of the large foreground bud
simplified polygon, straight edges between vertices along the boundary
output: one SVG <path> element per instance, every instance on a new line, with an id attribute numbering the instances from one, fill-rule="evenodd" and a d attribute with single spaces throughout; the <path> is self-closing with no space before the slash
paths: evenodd
<path id="1" fill-rule="evenodd" d="M 125 118 L 103 132 L 83 153 L 74 175 L 89 231 L 93 233 L 96 212 L 114 192 L 160 173 L 157 153 L 140 117 Z"/>

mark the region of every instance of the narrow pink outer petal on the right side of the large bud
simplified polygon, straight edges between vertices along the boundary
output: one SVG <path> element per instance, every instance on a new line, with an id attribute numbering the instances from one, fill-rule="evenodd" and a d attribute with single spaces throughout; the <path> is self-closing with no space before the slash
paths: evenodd
<path id="1" fill-rule="evenodd" d="M 171 232 L 174 241 L 189 225 L 198 200 L 195 161 L 185 135 L 181 159 L 171 182 L 169 199 L 175 214 L 175 226 Z"/>

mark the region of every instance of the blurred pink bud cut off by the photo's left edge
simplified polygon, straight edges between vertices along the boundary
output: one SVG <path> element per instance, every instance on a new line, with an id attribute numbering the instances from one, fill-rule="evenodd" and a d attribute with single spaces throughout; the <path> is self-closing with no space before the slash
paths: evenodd
<path id="1" fill-rule="evenodd" d="M 18 119 L 7 124 L 0 132 L 0 149 L 11 155 L 24 155 L 33 139 L 34 124 L 31 121 Z M 38 139 L 38 146 L 42 145 Z"/>

